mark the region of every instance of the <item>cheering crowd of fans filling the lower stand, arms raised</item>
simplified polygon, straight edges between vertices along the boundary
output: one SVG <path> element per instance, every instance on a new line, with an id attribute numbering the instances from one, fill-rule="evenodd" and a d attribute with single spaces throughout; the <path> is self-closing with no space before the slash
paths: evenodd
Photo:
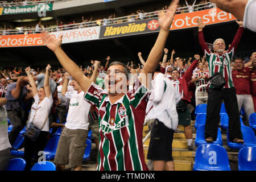
<path id="1" fill-rule="evenodd" d="M 216 123 L 224 100 L 232 118 L 230 140 L 243 143 L 238 118 L 241 107 L 245 109 L 246 126 L 249 115 L 256 111 L 256 52 L 251 53 L 247 63 L 234 56 L 243 34 L 243 22 L 237 21 L 237 34 L 228 49 L 223 39 L 216 39 L 209 48 L 204 42 L 205 24 L 198 19 L 199 44 L 205 55 L 195 54 L 185 60 L 176 57 L 175 50 L 165 48 L 177 3 L 173 1 L 169 11 L 159 15 L 158 39 L 146 61 L 138 50 L 140 64 L 134 64 L 135 60 L 124 64 L 106 56 L 104 61 L 92 60 L 82 68 L 61 49 L 61 36 L 53 38 L 44 32 L 42 40 L 55 53 L 62 68 L 53 69 L 48 64 L 42 70 L 29 66 L 2 69 L 0 114 L 5 127 L 1 127 L 0 133 L 0 169 L 7 167 L 10 148 L 23 127 L 36 126 L 41 129 L 37 138 L 26 134 L 24 140 L 26 170 L 31 169 L 33 155 L 38 160 L 37 154 L 46 146 L 50 128 L 57 127 L 63 128 L 54 159 L 58 170 L 64 170 L 68 163 L 74 170 L 81 170 L 90 129 L 98 148 L 97 170 L 147 170 L 142 129 L 149 123 L 147 158 L 154 161 L 152 169 L 163 170 L 166 164 L 167 169 L 174 170 L 170 150 L 177 125 L 184 126 L 189 150 L 195 149 L 191 127 L 195 111 L 189 110 L 188 105 L 195 108 L 195 90 L 200 85 L 206 86 L 198 96 L 208 96 L 208 100 L 200 99 L 198 104 L 210 103 L 205 140 L 216 140 Z M 209 82 L 214 73 L 224 77 L 225 84 L 220 89 Z M 7 118 L 9 125 L 13 125 L 9 135 Z"/>

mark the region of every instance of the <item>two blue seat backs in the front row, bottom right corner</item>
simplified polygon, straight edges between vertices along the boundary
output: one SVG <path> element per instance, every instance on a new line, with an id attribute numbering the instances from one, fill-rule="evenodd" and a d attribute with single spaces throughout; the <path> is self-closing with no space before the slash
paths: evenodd
<path id="1" fill-rule="evenodd" d="M 196 150 L 194 171 L 231 171 L 228 153 L 216 144 L 203 144 Z M 238 152 L 238 170 L 256 171 L 256 147 L 243 147 Z"/>

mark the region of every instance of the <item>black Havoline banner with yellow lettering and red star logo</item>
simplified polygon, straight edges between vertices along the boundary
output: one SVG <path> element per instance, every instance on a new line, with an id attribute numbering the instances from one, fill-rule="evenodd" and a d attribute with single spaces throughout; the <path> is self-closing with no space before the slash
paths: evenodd
<path id="1" fill-rule="evenodd" d="M 117 23 L 109 26 L 102 26 L 100 39 L 129 36 L 135 34 L 147 34 L 150 32 L 158 32 L 159 30 L 158 18 L 144 19 L 135 22 Z"/>

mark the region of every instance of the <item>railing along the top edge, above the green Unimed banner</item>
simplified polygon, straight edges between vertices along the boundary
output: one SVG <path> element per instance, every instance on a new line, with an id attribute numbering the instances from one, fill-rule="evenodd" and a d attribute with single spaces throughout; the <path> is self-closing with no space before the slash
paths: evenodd
<path id="1" fill-rule="evenodd" d="M 0 7 L 16 7 L 16 6 L 29 6 L 29 5 L 38 5 L 40 3 L 55 3 L 59 1 L 71 1 L 71 0 L 42 0 L 42 1 L 27 1 L 26 3 L 23 2 L 0 2 Z"/>

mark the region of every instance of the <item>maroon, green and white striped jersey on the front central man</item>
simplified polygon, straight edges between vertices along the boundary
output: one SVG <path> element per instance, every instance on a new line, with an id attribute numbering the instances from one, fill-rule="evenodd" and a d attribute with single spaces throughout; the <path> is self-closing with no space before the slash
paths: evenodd
<path id="1" fill-rule="evenodd" d="M 139 79 L 114 104 L 107 92 L 92 83 L 85 100 L 94 106 L 100 122 L 97 170 L 148 170 L 142 143 L 147 97 L 148 89 Z"/>

